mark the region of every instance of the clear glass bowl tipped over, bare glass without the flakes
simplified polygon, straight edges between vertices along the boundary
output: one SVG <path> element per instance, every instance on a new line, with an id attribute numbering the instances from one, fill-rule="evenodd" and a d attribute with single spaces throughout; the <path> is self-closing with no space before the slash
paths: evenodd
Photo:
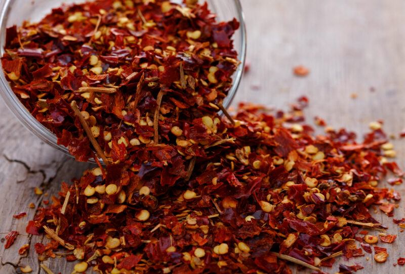
<path id="1" fill-rule="evenodd" d="M 49 14 L 53 8 L 61 6 L 62 3 L 73 4 L 83 2 L 83 0 L 0 0 L 0 55 L 3 56 L 4 54 L 7 27 L 13 25 L 20 26 L 25 20 L 37 22 L 45 15 Z M 181 3 L 182 1 L 176 0 L 172 2 Z M 199 2 L 204 3 L 205 0 Z M 233 18 L 236 18 L 240 22 L 240 28 L 233 36 L 234 47 L 238 52 L 240 65 L 233 75 L 233 85 L 223 102 L 224 107 L 227 108 L 236 94 L 245 66 L 246 28 L 244 15 L 239 0 L 207 0 L 207 2 L 211 11 L 217 14 L 218 21 L 230 21 Z M 0 95 L 3 97 L 3 100 L 6 102 L 9 109 L 25 127 L 45 143 L 70 155 L 66 147 L 57 144 L 56 135 L 39 123 L 20 103 L 6 80 L 3 69 L 0 69 Z"/>

